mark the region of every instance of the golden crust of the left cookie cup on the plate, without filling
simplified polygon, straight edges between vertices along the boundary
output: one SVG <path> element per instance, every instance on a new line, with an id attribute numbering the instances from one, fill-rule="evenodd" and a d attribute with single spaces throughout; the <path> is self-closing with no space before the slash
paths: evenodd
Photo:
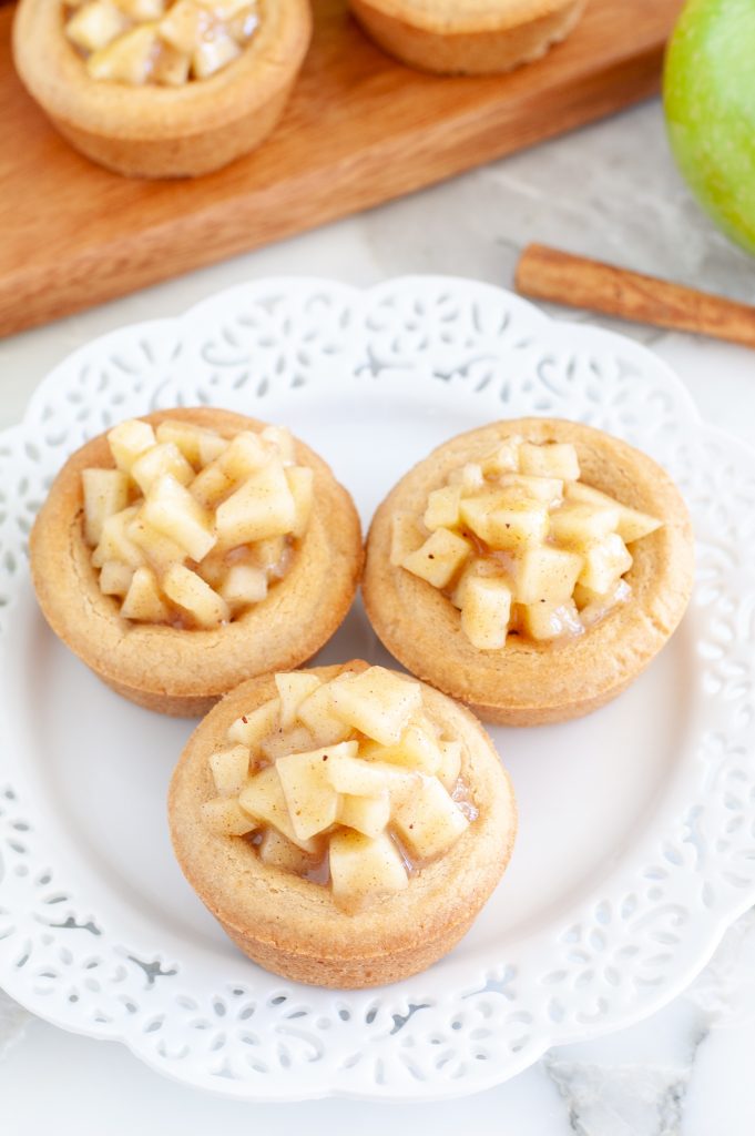
<path id="1" fill-rule="evenodd" d="M 229 437 L 263 423 L 202 407 L 144 415 L 156 425 L 181 419 Z M 267 599 L 212 630 L 181 630 L 124 619 L 103 595 L 82 527 L 81 473 L 112 467 L 100 434 L 74 453 L 52 484 L 32 531 L 30 552 L 45 619 L 112 690 L 161 713 L 198 717 L 243 679 L 290 670 L 310 659 L 346 616 L 362 566 L 360 524 L 351 496 L 303 442 L 296 461 L 314 474 L 314 504 L 292 565 Z"/>

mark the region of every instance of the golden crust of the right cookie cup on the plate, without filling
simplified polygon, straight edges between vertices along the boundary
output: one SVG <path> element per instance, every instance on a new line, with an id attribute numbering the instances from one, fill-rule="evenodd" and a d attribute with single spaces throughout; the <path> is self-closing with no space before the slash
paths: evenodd
<path id="1" fill-rule="evenodd" d="M 663 521 L 631 546 L 632 595 L 584 635 L 536 643 L 510 636 L 479 651 L 459 611 L 423 579 L 391 565 L 392 518 L 421 517 L 428 493 L 448 474 L 520 434 L 529 442 L 572 442 L 581 479 Z M 664 646 L 691 594 L 693 532 L 669 475 L 626 442 L 579 423 L 521 418 L 461 434 L 435 450 L 392 490 L 372 520 L 362 591 L 372 627 L 408 670 L 470 705 L 485 721 L 536 726 L 596 710 L 620 694 Z"/>

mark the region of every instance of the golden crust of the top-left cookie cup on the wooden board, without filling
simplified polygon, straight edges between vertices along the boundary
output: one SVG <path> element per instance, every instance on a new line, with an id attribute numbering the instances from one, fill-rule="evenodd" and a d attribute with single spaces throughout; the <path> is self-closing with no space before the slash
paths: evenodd
<path id="1" fill-rule="evenodd" d="M 60 134 L 93 161 L 136 177 L 219 169 L 270 133 L 283 114 L 312 32 L 307 0 L 267 0 L 243 55 L 181 87 L 90 78 L 66 39 L 58 0 L 20 0 L 14 61 Z"/>

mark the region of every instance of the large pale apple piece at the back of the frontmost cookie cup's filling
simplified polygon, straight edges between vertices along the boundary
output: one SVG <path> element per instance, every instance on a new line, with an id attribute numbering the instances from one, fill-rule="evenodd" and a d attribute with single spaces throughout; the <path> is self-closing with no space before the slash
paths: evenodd
<path id="1" fill-rule="evenodd" d="M 337 718 L 381 745 L 395 745 L 422 704 L 419 683 L 384 667 L 333 683 L 330 696 Z"/>

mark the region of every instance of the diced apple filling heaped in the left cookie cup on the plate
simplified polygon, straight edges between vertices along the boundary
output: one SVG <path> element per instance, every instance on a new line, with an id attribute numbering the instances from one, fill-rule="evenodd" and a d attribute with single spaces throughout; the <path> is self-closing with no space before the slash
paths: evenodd
<path id="1" fill-rule="evenodd" d="M 83 527 L 100 588 L 120 596 L 121 616 L 211 629 L 265 601 L 307 534 L 314 496 L 288 432 L 225 438 L 131 419 L 108 443 L 116 468 L 82 474 Z"/>

